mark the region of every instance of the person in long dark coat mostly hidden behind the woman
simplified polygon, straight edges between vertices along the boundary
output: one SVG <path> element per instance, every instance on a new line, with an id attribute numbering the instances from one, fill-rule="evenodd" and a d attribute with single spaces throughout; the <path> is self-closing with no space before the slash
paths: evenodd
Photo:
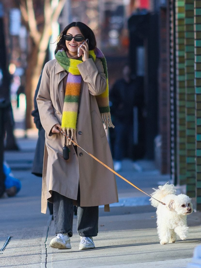
<path id="1" fill-rule="evenodd" d="M 45 147 L 45 131 L 40 122 L 40 116 L 38 111 L 38 105 L 36 102 L 36 97 L 38 95 L 40 81 L 41 81 L 42 73 L 40 75 L 38 85 L 36 87 L 35 95 L 34 95 L 34 110 L 31 112 L 33 116 L 33 121 L 38 128 L 38 140 L 36 144 L 35 155 L 33 159 L 32 171 L 31 173 L 35 176 L 42 177 L 43 176 L 43 157 L 44 157 L 44 147 Z M 50 211 L 50 215 L 53 215 L 53 204 L 48 202 L 48 208 Z"/>

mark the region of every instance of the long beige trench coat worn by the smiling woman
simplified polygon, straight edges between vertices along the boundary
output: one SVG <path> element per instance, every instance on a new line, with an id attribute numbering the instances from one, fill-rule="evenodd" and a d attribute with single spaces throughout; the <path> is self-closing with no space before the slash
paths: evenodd
<path id="1" fill-rule="evenodd" d="M 96 95 L 106 88 L 106 76 L 100 59 L 87 59 L 77 65 L 82 76 L 80 103 L 77 117 L 77 142 L 85 150 L 113 169 L 113 161 L 105 129 L 101 120 Z M 42 213 L 47 200 L 52 202 L 52 191 L 77 199 L 80 183 L 80 206 L 105 205 L 118 202 L 115 175 L 80 148 L 77 154 L 72 144 L 69 159 L 64 160 L 61 133 L 51 133 L 55 124 L 61 124 L 64 105 L 63 79 L 68 75 L 53 59 L 46 63 L 38 96 L 40 120 L 45 129 L 45 152 L 42 180 Z"/>

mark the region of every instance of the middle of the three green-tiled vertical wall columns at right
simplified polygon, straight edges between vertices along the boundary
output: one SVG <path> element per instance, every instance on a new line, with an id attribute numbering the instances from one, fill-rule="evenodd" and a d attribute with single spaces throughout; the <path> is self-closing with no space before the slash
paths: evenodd
<path id="1" fill-rule="evenodd" d="M 185 0 L 186 185 L 195 197 L 194 0 Z"/>

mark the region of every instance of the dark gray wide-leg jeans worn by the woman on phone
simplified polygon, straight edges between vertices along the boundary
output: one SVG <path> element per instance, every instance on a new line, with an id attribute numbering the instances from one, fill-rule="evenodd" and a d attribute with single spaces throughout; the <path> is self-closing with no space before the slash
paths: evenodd
<path id="1" fill-rule="evenodd" d="M 78 191 L 77 232 L 80 236 L 97 236 L 98 206 L 80 207 L 80 191 Z M 53 192 L 54 230 L 55 234 L 68 233 L 73 235 L 73 200 Z"/>

